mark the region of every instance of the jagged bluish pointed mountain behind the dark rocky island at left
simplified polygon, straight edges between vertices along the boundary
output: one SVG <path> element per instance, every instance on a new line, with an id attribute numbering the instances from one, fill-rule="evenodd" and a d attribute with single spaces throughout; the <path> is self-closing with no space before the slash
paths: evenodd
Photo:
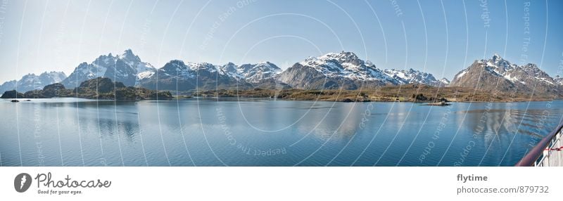
<path id="1" fill-rule="evenodd" d="M 88 79 L 108 77 L 125 86 L 137 86 L 155 72 L 155 67 L 141 61 L 131 49 L 127 49 L 118 56 L 109 53 L 99 56 L 92 63 L 81 63 L 62 83 L 67 87 L 77 87 Z"/>

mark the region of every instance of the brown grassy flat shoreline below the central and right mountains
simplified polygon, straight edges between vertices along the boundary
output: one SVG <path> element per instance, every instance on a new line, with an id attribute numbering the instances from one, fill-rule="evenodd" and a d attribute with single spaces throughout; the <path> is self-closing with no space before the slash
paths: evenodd
<path id="1" fill-rule="evenodd" d="M 465 87 L 434 87 L 407 84 L 403 86 L 381 86 L 375 89 L 357 90 L 304 90 L 304 89 L 220 89 L 192 91 L 191 96 L 215 98 L 279 98 L 282 100 L 320 100 L 343 102 L 522 102 L 562 99 L 562 95 L 529 93 L 514 91 L 485 91 Z"/>

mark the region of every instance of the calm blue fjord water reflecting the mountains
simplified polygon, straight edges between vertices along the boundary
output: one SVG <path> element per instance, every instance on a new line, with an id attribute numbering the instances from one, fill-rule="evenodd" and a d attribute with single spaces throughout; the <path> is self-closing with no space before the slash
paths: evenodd
<path id="1" fill-rule="evenodd" d="M 0 101 L 2 166 L 512 166 L 563 101 Z"/>

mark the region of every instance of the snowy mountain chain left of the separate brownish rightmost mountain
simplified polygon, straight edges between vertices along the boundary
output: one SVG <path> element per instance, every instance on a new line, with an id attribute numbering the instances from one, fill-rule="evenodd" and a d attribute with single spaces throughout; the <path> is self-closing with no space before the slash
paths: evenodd
<path id="1" fill-rule="evenodd" d="M 127 49 L 118 56 L 111 53 L 96 58 L 91 63 L 81 63 L 68 76 L 56 80 L 68 89 L 80 83 L 107 77 L 125 86 L 144 86 L 148 89 L 187 91 L 193 89 L 358 89 L 381 85 L 420 83 L 438 86 L 440 81 L 432 74 L 417 70 L 379 70 L 369 61 L 354 53 L 327 53 L 317 58 L 308 58 L 296 63 L 288 70 L 281 70 L 270 62 L 236 65 L 213 65 L 211 63 L 184 63 L 171 60 L 160 69 L 143 62 L 139 56 Z M 22 82 L 37 83 L 32 75 Z M 37 87 L 18 91 L 41 89 L 54 81 L 41 82 Z M 44 84 L 43 84 L 44 83 Z M 15 82 L 6 82 L 0 89 L 15 89 Z"/>

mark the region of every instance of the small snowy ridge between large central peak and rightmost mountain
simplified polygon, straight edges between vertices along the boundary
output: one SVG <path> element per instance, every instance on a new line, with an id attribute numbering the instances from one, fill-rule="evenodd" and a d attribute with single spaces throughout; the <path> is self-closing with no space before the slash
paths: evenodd
<path id="1" fill-rule="evenodd" d="M 426 84 L 430 86 L 443 86 L 443 79 L 445 79 L 443 78 L 441 80 L 437 80 L 434 75 L 430 73 L 420 72 L 418 70 L 413 70 L 412 68 L 409 70 L 387 69 L 384 70 L 384 73 L 389 77 L 396 79 L 399 84 Z M 445 79 L 445 81 L 448 81 L 448 79 Z"/>

